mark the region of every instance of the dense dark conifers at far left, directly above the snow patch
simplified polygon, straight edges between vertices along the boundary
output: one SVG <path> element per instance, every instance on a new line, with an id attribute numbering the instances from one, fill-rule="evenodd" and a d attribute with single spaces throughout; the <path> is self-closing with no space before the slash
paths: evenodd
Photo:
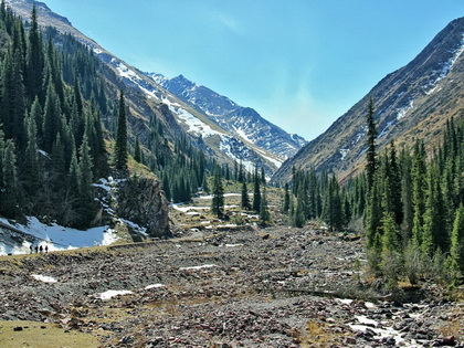
<path id="1" fill-rule="evenodd" d="M 70 35 L 43 33 L 35 7 L 27 29 L 2 1 L 0 215 L 85 228 L 96 210 L 92 182 L 108 168 L 99 64 Z"/>

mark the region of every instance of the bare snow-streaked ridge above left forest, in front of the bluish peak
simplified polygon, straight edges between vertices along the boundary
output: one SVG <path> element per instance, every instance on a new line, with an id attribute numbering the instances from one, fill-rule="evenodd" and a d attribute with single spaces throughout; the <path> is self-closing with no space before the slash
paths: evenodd
<path id="1" fill-rule="evenodd" d="M 19 15 L 30 18 L 32 0 L 7 0 Z M 243 162 L 244 167 L 264 167 L 271 176 L 283 162 L 284 158 L 270 150 L 240 137 L 213 123 L 200 109 L 178 98 L 165 87 L 146 76 L 143 72 L 123 62 L 107 52 L 98 43 L 72 27 L 71 22 L 53 11 L 45 3 L 35 2 L 41 25 L 55 27 L 60 32 L 71 33 L 87 45 L 106 65 L 105 77 L 113 86 L 114 94 L 123 88 L 130 108 L 130 133 L 137 135 L 141 144 L 149 138 L 148 124 L 156 118 L 161 122 L 165 134 L 172 143 L 180 134 L 194 146 L 201 146 L 207 154 L 219 162 L 232 165 Z"/>

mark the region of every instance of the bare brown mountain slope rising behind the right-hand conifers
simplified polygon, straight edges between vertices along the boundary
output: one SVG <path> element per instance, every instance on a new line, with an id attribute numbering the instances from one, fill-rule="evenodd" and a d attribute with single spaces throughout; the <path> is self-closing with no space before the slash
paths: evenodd
<path id="1" fill-rule="evenodd" d="M 324 134 L 287 160 L 274 181 L 286 181 L 292 167 L 335 170 L 342 177 L 359 170 L 366 149 L 365 115 L 372 98 L 379 149 L 391 140 L 410 146 L 423 138 L 431 149 L 450 117 L 463 117 L 464 18 L 452 21 L 408 65 L 387 75 Z"/>

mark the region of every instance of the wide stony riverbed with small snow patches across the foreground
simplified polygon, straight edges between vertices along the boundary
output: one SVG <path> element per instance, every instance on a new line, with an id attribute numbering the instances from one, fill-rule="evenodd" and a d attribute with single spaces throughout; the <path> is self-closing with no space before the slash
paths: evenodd
<path id="1" fill-rule="evenodd" d="M 463 346 L 462 303 L 433 287 L 393 302 L 360 285 L 359 239 L 286 226 L 209 233 L 1 257 L 0 320 L 54 323 L 104 347 Z"/>

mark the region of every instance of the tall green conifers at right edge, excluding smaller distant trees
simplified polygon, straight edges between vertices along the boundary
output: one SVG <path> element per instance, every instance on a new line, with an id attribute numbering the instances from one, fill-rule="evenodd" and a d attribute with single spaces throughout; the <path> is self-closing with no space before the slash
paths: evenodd
<path id="1" fill-rule="evenodd" d="M 375 149 L 373 140 L 368 148 Z M 429 156 L 418 140 L 412 151 L 403 148 L 398 156 L 391 143 L 384 154 L 368 158 L 365 225 L 369 264 L 378 276 L 391 284 L 399 276 L 415 283 L 428 273 L 458 282 L 464 272 L 463 148 L 461 117 L 446 122 L 441 147 Z"/>

